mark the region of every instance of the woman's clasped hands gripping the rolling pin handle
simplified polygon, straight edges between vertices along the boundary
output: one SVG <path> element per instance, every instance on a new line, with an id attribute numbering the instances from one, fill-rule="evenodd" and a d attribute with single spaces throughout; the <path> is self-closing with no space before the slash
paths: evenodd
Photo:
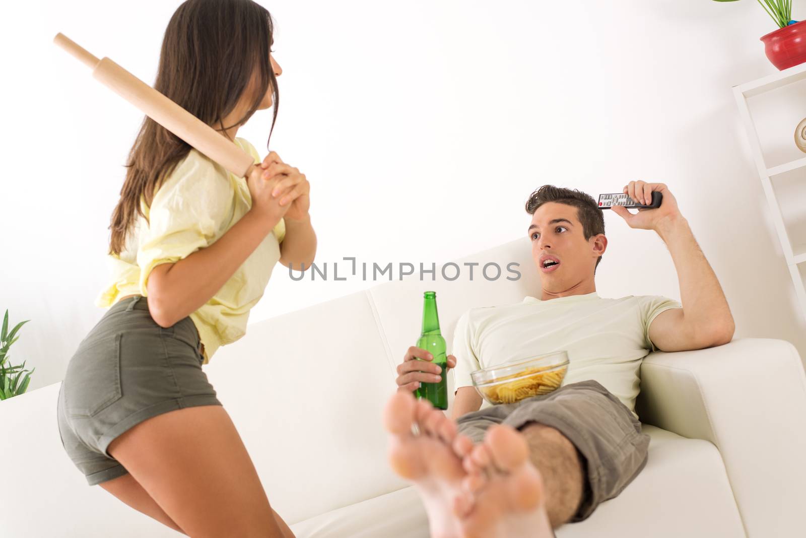
<path id="1" fill-rule="evenodd" d="M 272 223 L 285 217 L 302 220 L 310 208 L 310 184 L 298 168 L 284 163 L 274 151 L 247 177 L 251 193 L 251 212 Z"/>

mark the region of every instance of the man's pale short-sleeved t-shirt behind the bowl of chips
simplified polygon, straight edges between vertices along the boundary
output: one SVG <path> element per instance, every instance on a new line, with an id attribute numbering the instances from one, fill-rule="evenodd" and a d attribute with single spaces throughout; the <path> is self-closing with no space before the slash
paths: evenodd
<path id="1" fill-rule="evenodd" d="M 638 368 L 650 350 L 658 350 L 650 324 L 669 308 L 683 305 L 663 296 L 603 299 L 596 292 L 472 308 L 456 325 L 454 387 L 472 387 L 473 370 L 566 350 L 563 385 L 595 379 L 635 413 Z"/>

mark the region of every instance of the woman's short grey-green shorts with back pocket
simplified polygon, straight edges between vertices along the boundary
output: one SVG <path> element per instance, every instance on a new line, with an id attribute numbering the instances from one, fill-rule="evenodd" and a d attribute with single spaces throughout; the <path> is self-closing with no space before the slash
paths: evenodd
<path id="1" fill-rule="evenodd" d="M 90 486 L 127 474 L 106 453 L 115 437 L 165 412 L 221 405 L 202 371 L 190 317 L 164 329 L 142 296 L 106 311 L 67 366 L 56 405 L 64 450 Z"/>

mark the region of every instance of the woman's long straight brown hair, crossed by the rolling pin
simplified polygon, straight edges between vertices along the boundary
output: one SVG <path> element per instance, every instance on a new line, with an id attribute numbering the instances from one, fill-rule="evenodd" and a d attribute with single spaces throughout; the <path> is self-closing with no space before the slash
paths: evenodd
<path id="1" fill-rule="evenodd" d="M 256 77 L 256 95 L 243 125 L 272 88 L 272 130 L 280 95 L 269 59 L 272 16 L 252 0 L 187 0 L 172 15 L 162 42 L 154 88 L 210 126 L 230 129 L 231 114 Z M 272 130 L 268 138 L 272 137 Z M 268 140 L 266 142 L 268 148 Z M 140 197 L 151 207 L 156 189 L 190 145 L 146 117 L 127 159 L 126 180 L 112 213 L 110 254 L 120 255 L 131 225 L 142 215 Z"/>

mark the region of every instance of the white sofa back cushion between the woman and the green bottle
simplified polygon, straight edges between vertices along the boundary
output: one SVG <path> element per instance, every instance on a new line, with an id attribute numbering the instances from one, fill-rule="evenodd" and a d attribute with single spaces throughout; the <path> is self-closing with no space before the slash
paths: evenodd
<path id="1" fill-rule="evenodd" d="M 386 459 L 395 385 L 365 292 L 249 325 L 205 371 L 286 522 L 407 485 Z"/>

